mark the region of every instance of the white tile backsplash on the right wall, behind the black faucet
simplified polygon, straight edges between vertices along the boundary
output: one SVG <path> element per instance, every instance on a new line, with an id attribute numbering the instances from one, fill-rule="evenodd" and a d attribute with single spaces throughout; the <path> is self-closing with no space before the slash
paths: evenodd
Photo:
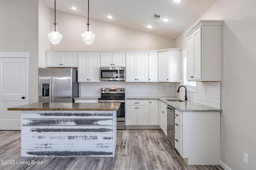
<path id="1" fill-rule="evenodd" d="M 175 97 L 184 99 L 184 88 L 180 88 L 180 92 L 177 93 L 181 85 L 183 83 L 175 83 Z M 192 102 L 220 109 L 220 82 L 197 82 L 197 93 L 187 92 L 187 97 Z"/>

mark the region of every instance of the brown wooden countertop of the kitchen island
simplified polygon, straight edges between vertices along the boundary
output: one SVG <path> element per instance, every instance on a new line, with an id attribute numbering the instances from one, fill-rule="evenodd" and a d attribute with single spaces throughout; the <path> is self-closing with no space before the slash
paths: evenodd
<path id="1" fill-rule="evenodd" d="M 8 110 L 118 111 L 120 103 L 32 103 Z"/>

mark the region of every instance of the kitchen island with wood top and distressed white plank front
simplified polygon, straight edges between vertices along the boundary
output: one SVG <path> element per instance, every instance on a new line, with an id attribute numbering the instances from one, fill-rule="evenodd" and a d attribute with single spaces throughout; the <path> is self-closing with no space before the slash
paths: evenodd
<path id="1" fill-rule="evenodd" d="M 33 103 L 21 110 L 21 156 L 114 157 L 120 103 Z"/>

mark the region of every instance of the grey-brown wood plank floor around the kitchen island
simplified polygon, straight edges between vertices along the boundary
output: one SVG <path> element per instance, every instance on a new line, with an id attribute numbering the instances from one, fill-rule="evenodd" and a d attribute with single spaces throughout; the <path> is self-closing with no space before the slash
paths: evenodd
<path id="1" fill-rule="evenodd" d="M 159 129 L 118 131 L 114 158 L 20 157 L 20 131 L 0 131 L 0 160 L 14 160 L 0 164 L 0 170 L 223 170 L 219 165 L 186 164 Z"/>

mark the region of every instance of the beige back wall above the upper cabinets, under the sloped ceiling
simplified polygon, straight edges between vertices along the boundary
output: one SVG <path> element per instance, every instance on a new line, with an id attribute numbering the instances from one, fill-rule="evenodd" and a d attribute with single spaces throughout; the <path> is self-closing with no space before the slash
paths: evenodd
<path id="1" fill-rule="evenodd" d="M 84 44 L 81 33 L 86 31 L 87 18 L 56 11 L 58 31 L 63 39 L 51 50 L 159 50 L 173 48 L 175 40 L 136 29 L 90 19 L 91 31 L 96 35 L 92 45 Z M 54 10 L 51 10 L 54 23 Z M 52 28 L 51 28 L 52 29 Z"/>

